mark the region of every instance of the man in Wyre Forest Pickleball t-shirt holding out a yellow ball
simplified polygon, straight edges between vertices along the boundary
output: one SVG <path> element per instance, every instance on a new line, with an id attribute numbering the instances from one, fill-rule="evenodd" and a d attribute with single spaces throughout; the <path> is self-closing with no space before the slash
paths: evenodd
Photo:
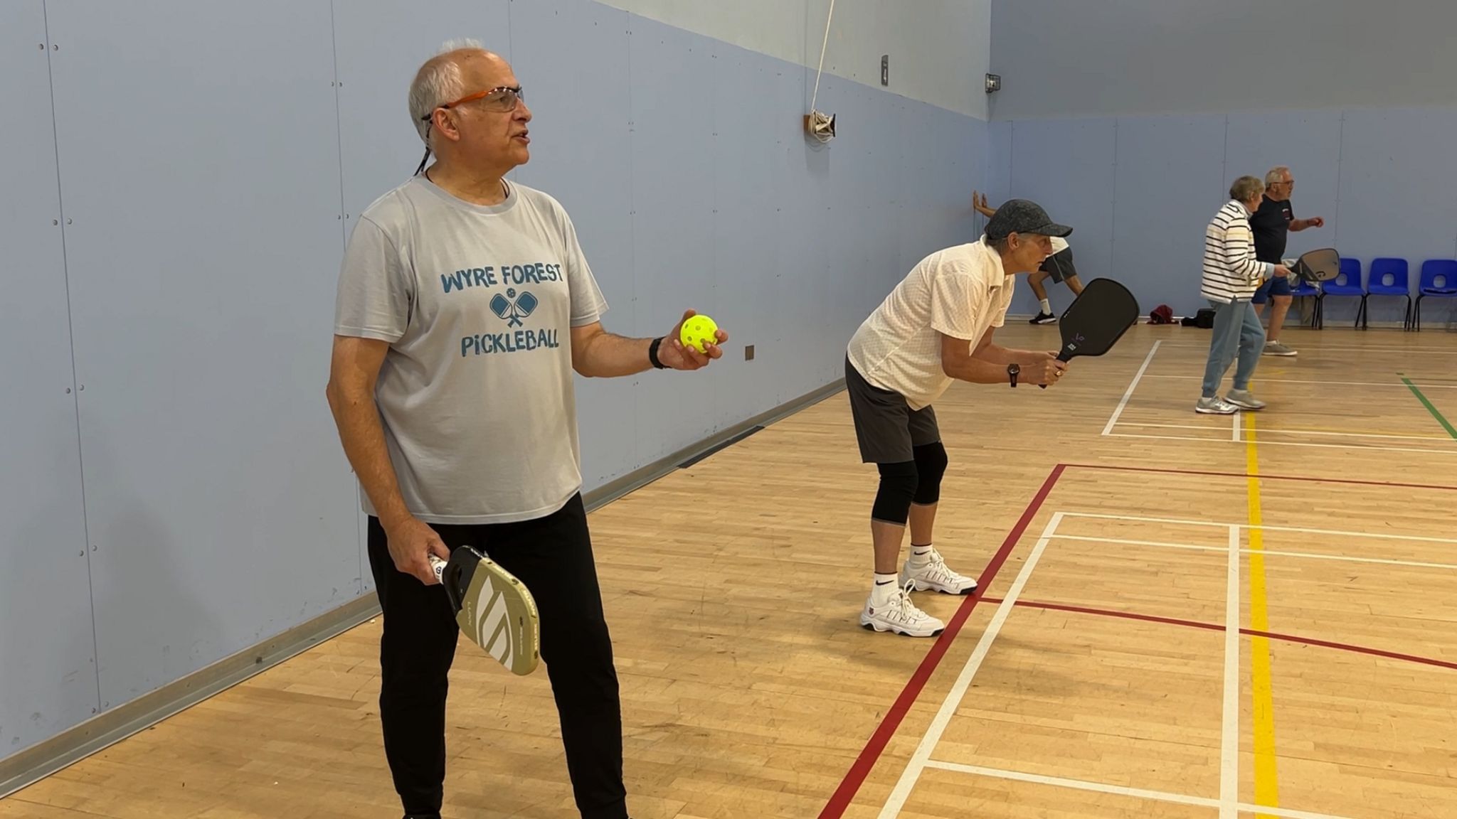
<path id="1" fill-rule="evenodd" d="M 428 555 L 471 544 L 536 600 L 581 816 L 625 819 L 621 702 L 581 500 L 573 372 L 696 370 L 723 353 L 683 345 L 678 326 L 664 338 L 603 329 L 606 303 L 565 210 L 506 181 L 530 157 L 532 119 L 506 60 L 474 41 L 447 45 L 420 67 L 409 115 L 425 160 L 437 162 L 421 162 L 360 214 L 339 274 L 328 386 L 369 516 L 395 788 L 407 819 L 440 816 L 457 627 Z"/>

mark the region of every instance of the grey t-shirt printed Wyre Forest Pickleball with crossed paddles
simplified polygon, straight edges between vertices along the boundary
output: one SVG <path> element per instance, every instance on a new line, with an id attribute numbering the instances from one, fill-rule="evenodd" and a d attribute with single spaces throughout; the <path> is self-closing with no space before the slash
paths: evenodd
<path id="1" fill-rule="evenodd" d="M 412 514 L 529 520 L 580 491 L 571 328 L 605 310 L 567 211 L 541 191 L 510 184 L 488 207 L 415 176 L 360 214 L 334 332 L 390 342 L 376 401 Z"/>

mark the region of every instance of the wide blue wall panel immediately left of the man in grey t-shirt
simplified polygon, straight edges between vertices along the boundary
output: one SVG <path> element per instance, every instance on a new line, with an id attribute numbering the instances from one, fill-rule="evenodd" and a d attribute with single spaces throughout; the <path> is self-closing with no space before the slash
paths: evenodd
<path id="1" fill-rule="evenodd" d="M 108 707 L 360 595 L 332 32 L 326 0 L 48 15 Z"/>

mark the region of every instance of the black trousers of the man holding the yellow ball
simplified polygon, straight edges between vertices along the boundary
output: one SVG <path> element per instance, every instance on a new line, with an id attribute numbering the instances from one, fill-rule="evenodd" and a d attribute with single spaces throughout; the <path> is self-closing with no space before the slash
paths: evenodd
<path id="1" fill-rule="evenodd" d="M 577 809 L 583 819 L 627 819 L 618 675 L 581 495 L 538 520 L 431 528 L 446 546 L 474 545 L 530 589 Z M 385 756 L 405 813 L 436 816 L 444 797 L 446 678 L 459 628 L 441 586 L 395 568 L 374 517 L 369 560 L 385 619 L 379 695 Z"/>

